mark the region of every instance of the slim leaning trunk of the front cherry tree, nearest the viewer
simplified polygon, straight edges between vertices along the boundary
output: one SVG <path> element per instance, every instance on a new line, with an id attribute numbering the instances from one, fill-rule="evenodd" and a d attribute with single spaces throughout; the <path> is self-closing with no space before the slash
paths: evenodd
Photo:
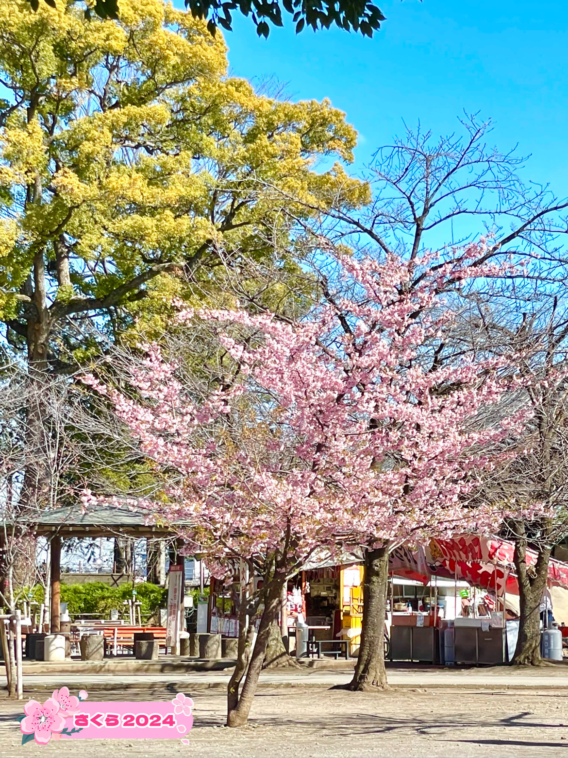
<path id="1" fill-rule="evenodd" d="M 227 697 L 227 726 L 244 726 L 251 711 L 252 700 L 256 692 L 258 678 L 261 675 L 262 664 L 267 650 L 270 627 L 277 619 L 282 594 L 284 573 L 276 572 L 276 575 L 267 584 L 265 590 L 264 612 L 261 617 L 261 625 L 258 628 L 256 642 L 248 664 L 248 672 L 245 678 L 240 697 L 238 693 L 229 692 Z M 240 640 L 239 640 L 240 647 Z"/>

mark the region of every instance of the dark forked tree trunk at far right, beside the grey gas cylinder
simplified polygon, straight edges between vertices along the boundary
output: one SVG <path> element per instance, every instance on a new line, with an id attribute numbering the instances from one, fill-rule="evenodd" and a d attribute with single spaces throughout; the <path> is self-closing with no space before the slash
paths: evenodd
<path id="1" fill-rule="evenodd" d="M 540 643 L 540 604 L 545 592 L 548 578 L 548 560 L 550 547 L 538 550 L 536 564 L 526 565 L 527 540 L 523 527 L 515 540 L 514 563 L 519 581 L 520 619 L 519 637 L 513 663 L 522 666 L 538 666 L 542 663 Z"/>

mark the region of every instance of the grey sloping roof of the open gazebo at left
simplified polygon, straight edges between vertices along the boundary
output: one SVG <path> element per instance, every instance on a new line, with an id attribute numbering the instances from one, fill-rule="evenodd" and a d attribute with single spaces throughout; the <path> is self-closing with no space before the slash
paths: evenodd
<path id="1" fill-rule="evenodd" d="M 184 522 L 186 523 L 186 522 Z M 188 522 L 189 523 L 189 522 Z M 61 537 L 167 537 L 175 534 L 171 525 L 156 515 L 126 506 L 65 506 L 45 511 L 34 520 L 36 534 L 59 534 Z"/>

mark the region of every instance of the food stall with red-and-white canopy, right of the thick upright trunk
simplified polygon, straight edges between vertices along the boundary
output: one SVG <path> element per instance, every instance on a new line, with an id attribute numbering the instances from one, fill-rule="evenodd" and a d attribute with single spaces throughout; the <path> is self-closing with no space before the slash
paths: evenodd
<path id="1" fill-rule="evenodd" d="M 393 597 L 395 617 L 403 614 L 417 617 L 392 619 L 393 659 L 436 659 L 431 653 L 436 646 L 430 633 L 397 631 L 397 626 L 437 629 L 440 662 L 496 665 L 512 659 L 519 625 L 519 589 L 513 553 L 514 544 L 508 540 L 474 535 L 430 540 L 423 547 L 401 546 L 394 550 L 389 559 L 391 575 L 412 580 L 411 584 L 422 584 L 424 589 L 422 592 L 415 589 L 414 599 L 396 597 L 398 604 Z M 535 561 L 535 553 L 528 550 L 528 564 Z M 454 598 L 452 590 L 444 588 L 445 581 L 454 587 Z M 426 589 L 432 584 L 434 592 Z M 548 587 L 552 591 L 568 587 L 568 564 L 550 560 Z M 426 603 L 420 608 L 421 597 L 426 597 Z M 414 634 L 412 645 L 410 634 Z M 427 637 L 427 644 L 420 645 L 420 636 Z"/>

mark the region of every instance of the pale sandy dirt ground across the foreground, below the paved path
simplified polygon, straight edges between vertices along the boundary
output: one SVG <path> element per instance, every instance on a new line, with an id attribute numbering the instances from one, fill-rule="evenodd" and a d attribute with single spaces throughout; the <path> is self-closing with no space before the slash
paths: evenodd
<path id="1" fill-rule="evenodd" d="M 189 689 L 189 688 L 188 688 Z M 259 688 L 250 724 L 223 726 L 221 688 L 194 686 L 189 745 L 180 740 L 57 741 L 21 746 L 15 716 L 23 703 L 0 700 L 0 756 L 566 756 L 568 703 L 563 690 L 448 688 L 351 693 L 319 686 Z M 39 700 L 46 693 L 33 695 Z M 92 700 L 170 700 L 156 688 L 119 693 L 89 693 Z M 24 702 L 27 702 L 28 695 Z"/>

